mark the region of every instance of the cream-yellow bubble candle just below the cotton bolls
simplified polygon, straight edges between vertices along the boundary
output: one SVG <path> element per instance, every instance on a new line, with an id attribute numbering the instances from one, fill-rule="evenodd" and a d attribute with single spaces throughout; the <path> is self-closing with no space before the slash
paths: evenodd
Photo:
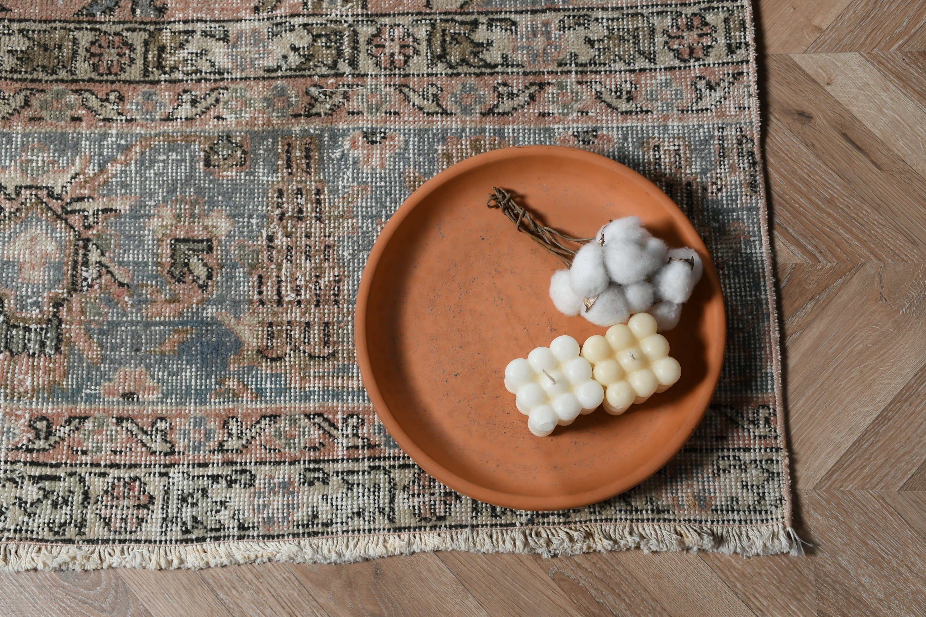
<path id="1" fill-rule="evenodd" d="M 682 366 L 669 356 L 669 341 L 656 329 L 652 315 L 638 313 L 626 325 L 612 326 L 605 336 L 596 334 L 582 345 L 594 380 L 605 388 L 607 413 L 624 413 L 682 376 Z"/>

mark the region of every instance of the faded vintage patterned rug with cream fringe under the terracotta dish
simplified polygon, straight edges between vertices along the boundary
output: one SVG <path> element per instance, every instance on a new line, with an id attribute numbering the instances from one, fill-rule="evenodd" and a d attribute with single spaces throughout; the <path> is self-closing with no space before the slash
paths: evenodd
<path id="1" fill-rule="evenodd" d="M 748 0 L 2 0 L 0 565 L 799 550 Z M 472 154 L 640 170 L 720 268 L 720 387 L 613 500 L 515 512 L 373 412 L 383 223 Z"/>

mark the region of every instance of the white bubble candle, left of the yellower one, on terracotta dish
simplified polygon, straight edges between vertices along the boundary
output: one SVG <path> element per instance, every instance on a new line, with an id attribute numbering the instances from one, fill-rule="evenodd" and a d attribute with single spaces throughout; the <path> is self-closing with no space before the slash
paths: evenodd
<path id="1" fill-rule="evenodd" d="M 592 413 L 605 398 L 592 377 L 592 364 L 569 336 L 538 347 L 526 360 L 508 363 L 505 387 L 515 394 L 518 411 L 528 416 L 527 427 L 537 437 L 549 435 L 557 425 L 572 424 L 580 413 Z"/>

